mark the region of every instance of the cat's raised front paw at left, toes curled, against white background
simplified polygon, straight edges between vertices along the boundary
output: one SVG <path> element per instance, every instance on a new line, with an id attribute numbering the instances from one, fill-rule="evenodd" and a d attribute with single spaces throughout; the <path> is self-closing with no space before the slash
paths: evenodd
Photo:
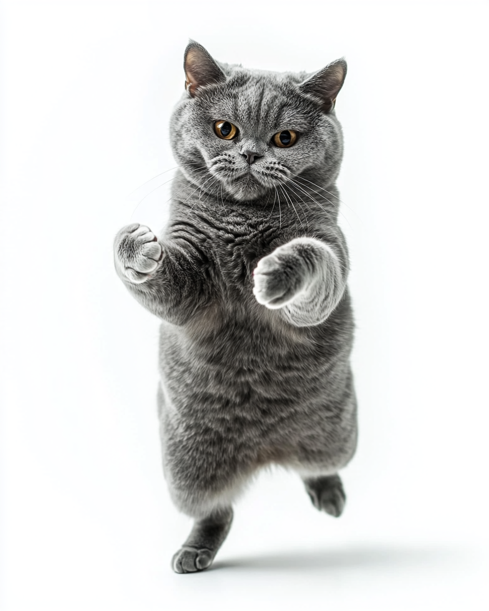
<path id="1" fill-rule="evenodd" d="M 150 277 L 163 260 L 163 247 L 155 234 L 139 223 L 126 225 L 116 235 L 114 260 L 120 274 L 135 284 Z"/>

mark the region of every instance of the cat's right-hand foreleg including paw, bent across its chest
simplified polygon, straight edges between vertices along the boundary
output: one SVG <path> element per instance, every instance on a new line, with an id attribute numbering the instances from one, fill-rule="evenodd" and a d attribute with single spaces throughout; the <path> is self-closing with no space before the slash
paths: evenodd
<path id="1" fill-rule="evenodd" d="M 260 260 L 254 274 L 257 301 L 294 326 L 328 318 L 342 298 L 348 275 L 344 240 L 296 238 Z"/>

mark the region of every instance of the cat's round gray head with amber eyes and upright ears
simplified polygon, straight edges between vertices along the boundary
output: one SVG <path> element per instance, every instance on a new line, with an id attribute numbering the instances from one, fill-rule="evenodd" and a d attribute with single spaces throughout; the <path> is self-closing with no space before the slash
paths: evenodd
<path id="1" fill-rule="evenodd" d="M 190 42 L 184 68 L 171 141 L 197 186 L 247 201 L 298 177 L 322 185 L 336 179 L 343 144 L 334 103 L 347 71 L 343 59 L 313 75 L 246 70 Z"/>

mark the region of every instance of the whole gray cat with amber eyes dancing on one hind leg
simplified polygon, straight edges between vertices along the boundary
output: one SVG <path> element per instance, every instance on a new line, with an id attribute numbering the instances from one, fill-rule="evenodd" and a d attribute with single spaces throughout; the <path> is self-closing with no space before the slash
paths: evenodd
<path id="1" fill-rule="evenodd" d="M 267 464 L 295 469 L 333 516 L 356 446 L 348 254 L 337 225 L 347 70 L 314 75 L 185 51 L 171 119 L 180 169 L 160 239 L 123 227 L 116 269 L 161 318 L 158 407 L 172 500 L 195 525 L 177 573 L 208 568 L 232 503 Z"/>

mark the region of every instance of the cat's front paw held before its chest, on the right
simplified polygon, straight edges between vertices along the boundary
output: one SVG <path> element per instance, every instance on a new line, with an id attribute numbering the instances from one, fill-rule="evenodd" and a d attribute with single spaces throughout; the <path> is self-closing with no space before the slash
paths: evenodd
<path id="1" fill-rule="evenodd" d="M 254 272 L 253 294 L 257 302 L 270 309 L 289 304 L 307 285 L 301 258 L 288 244 L 279 246 L 258 262 Z"/>

